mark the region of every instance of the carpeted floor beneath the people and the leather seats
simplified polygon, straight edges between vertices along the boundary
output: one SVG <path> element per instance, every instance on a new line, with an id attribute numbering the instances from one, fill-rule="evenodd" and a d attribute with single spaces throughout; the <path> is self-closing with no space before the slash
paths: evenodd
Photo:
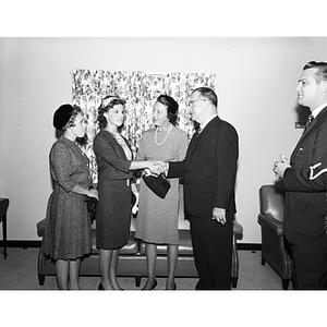
<path id="1" fill-rule="evenodd" d="M 56 278 L 47 276 L 44 286 L 38 284 L 37 254 L 38 249 L 8 249 L 7 259 L 0 255 L 0 290 L 57 290 Z M 269 265 L 261 265 L 259 251 L 239 251 L 240 271 L 238 288 L 240 290 L 282 290 L 279 276 Z M 156 290 L 165 289 L 165 278 L 158 278 Z M 97 290 L 99 277 L 81 277 L 82 290 Z M 194 290 L 197 279 L 177 278 L 178 290 Z M 142 279 L 141 287 L 135 286 L 134 278 L 119 278 L 121 287 L 125 290 L 140 290 L 145 283 Z M 290 283 L 292 289 L 292 283 Z M 1 293 L 0 293 L 1 294 Z"/>

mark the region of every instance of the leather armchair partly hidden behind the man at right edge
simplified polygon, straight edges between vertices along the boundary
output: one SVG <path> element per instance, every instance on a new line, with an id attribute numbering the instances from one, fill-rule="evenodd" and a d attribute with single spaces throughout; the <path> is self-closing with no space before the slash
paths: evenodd
<path id="1" fill-rule="evenodd" d="M 292 259 L 283 237 L 284 189 L 282 185 L 263 185 L 259 189 L 259 214 L 262 229 L 262 265 L 266 262 L 280 276 L 282 289 L 292 279 Z"/>

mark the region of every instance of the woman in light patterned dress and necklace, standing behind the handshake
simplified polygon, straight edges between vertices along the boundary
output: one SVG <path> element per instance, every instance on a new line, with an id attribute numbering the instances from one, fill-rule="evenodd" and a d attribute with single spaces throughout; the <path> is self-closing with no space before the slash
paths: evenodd
<path id="1" fill-rule="evenodd" d="M 144 132 L 136 160 L 183 160 L 187 135 L 175 126 L 179 105 L 167 95 L 160 95 L 154 106 L 155 128 Z M 157 286 L 155 276 L 157 244 L 167 245 L 168 277 L 166 290 L 175 290 L 174 272 L 178 262 L 179 179 L 169 180 L 171 187 L 162 199 L 141 180 L 135 238 L 146 242 L 147 281 L 143 290 Z"/>

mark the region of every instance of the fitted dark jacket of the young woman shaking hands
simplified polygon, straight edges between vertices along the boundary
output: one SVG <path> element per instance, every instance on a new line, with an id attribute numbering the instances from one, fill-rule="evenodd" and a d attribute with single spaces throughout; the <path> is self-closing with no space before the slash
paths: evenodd
<path id="1" fill-rule="evenodd" d="M 125 143 L 129 142 L 124 138 Z M 94 153 L 98 166 L 99 181 L 122 180 L 132 178 L 132 160 L 128 160 L 123 148 L 107 131 L 100 131 L 94 138 Z"/>

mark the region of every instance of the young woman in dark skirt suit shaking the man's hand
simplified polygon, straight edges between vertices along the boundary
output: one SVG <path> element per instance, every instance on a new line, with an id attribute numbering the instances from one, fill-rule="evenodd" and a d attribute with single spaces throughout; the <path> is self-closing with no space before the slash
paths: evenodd
<path id="1" fill-rule="evenodd" d="M 125 118 L 124 101 L 109 96 L 98 112 L 100 132 L 94 140 L 98 166 L 97 247 L 101 282 L 99 290 L 121 290 L 117 281 L 119 251 L 129 241 L 131 178 L 135 169 L 156 171 L 153 161 L 133 161 L 132 150 L 120 130 Z"/>

